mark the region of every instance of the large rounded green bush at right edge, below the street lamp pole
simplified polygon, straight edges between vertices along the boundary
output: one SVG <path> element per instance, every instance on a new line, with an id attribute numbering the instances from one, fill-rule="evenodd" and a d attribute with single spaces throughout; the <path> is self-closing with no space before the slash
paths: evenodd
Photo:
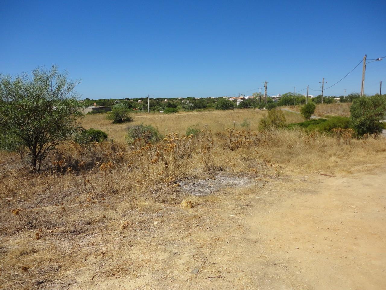
<path id="1" fill-rule="evenodd" d="M 351 124 L 358 136 L 382 131 L 385 118 L 386 97 L 371 96 L 354 99 L 350 107 Z"/>

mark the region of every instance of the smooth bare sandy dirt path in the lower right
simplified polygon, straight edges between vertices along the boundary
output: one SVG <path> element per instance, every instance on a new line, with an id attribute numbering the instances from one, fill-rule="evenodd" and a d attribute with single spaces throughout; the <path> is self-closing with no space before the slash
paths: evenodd
<path id="1" fill-rule="evenodd" d="M 247 219 L 251 238 L 262 237 L 264 253 L 279 268 L 275 276 L 284 275 L 276 285 L 385 289 L 385 180 L 384 167 L 349 177 L 318 177 L 311 186 L 315 192 L 291 188 L 293 196 L 252 214 Z M 254 259 L 249 263 L 253 267 Z"/>

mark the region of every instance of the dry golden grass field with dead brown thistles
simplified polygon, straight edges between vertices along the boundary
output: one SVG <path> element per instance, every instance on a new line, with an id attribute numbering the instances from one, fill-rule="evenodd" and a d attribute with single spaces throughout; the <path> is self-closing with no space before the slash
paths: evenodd
<path id="1" fill-rule="evenodd" d="M 344 141 L 296 130 L 257 131 L 262 114 L 139 114 L 134 124 L 156 126 L 166 137 L 157 144 L 137 140 L 132 145 L 124 142 L 128 124 L 86 116 L 87 128 L 106 131 L 115 141 L 60 148 L 42 174 L 30 174 L 19 156 L 2 152 L 0 285 L 200 289 L 195 269 L 204 278 L 223 279 L 219 258 L 232 254 L 221 248 L 245 233 L 238 215 L 264 188 L 272 185 L 281 196 L 280 188 L 295 186 L 290 181 L 296 176 L 348 174 L 385 160 L 384 138 Z M 295 113 L 286 117 L 301 121 Z M 250 122 L 247 130 L 240 126 L 244 119 Z M 202 129 L 201 135 L 183 136 L 192 125 Z M 219 176 L 250 183 L 212 188 L 207 196 L 191 195 L 180 186 L 189 180 L 210 183 Z M 235 222 L 229 224 L 229 218 Z M 240 247 L 247 249 L 246 242 Z M 237 275 L 224 281 L 226 287 L 256 288 L 256 277 L 237 264 L 227 267 Z"/>

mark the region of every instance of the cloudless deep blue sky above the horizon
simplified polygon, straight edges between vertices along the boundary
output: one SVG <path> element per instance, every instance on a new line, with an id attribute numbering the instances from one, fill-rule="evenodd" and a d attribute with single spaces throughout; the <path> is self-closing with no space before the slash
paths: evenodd
<path id="1" fill-rule="evenodd" d="M 334 84 L 364 54 L 386 56 L 385 1 L 2 0 L 1 7 L 0 72 L 54 63 L 82 79 L 84 98 L 218 97 L 265 80 L 271 94 L 318 90 L 323 77 Z M 359 92 L 361 75 L 359 65 L 325 95 Z M 367 66 L 365 93 L 379 92 L 381 80 L 386 92 L 386 58 Z"/>

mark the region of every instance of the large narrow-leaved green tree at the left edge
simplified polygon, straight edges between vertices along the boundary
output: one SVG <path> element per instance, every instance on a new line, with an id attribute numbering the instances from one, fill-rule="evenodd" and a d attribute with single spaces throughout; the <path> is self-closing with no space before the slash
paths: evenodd
<path id="1" fill-rule="evenodd" d="M 78 83 L 54 65 L 0 75 L 0 149 L 27 154 L 32 171 L 39 172 L 47 154 L 82 129 Z"/>

